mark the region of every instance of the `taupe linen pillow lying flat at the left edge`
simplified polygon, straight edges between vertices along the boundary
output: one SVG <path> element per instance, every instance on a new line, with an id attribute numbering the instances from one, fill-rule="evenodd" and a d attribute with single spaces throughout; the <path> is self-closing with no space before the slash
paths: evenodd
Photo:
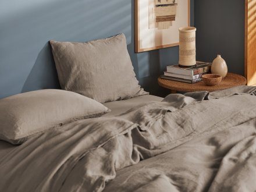
<path id="1" fill-rule="evenodd" d="M 101 116 L 106 106 L 77 93 L 39 90 L 0 99 L 0 140 L 21 144 L 34 134 Z"/>

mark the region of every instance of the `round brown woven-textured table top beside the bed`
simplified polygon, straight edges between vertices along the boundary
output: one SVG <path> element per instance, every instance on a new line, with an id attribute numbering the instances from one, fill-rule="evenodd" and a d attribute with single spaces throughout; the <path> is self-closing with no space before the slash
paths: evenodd
<path id="1" fill-rule="evenodd" d="M 203 81 L 198 83 L 183 83 L 180 81 L 173 81 L 162 79 L 158 77 L 158 84 L 161 87 L 169 88 L 173 91 L 184 91 L 184 92 L 193 92 L 193 91 L 216 91 L 216 90 L 223 90 L 225 88 L 236 87 L 236 86 L 243 86 L 247 84 L 247 80 L 245 77 L 234 74 L 234 73 L 227 73 L 226 77 L 222 79 L 221 83 L 216 86 L 206 86 Z"/>

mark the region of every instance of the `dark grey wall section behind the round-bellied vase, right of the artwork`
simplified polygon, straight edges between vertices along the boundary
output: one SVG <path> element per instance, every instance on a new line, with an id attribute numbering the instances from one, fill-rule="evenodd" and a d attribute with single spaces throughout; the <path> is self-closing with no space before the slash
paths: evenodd
<path id="1" fill-rule="evenodd" d="M 229 72 L 244 74 L 244 0 L 196 0 L 197 60 L 220 54 Z"/>

